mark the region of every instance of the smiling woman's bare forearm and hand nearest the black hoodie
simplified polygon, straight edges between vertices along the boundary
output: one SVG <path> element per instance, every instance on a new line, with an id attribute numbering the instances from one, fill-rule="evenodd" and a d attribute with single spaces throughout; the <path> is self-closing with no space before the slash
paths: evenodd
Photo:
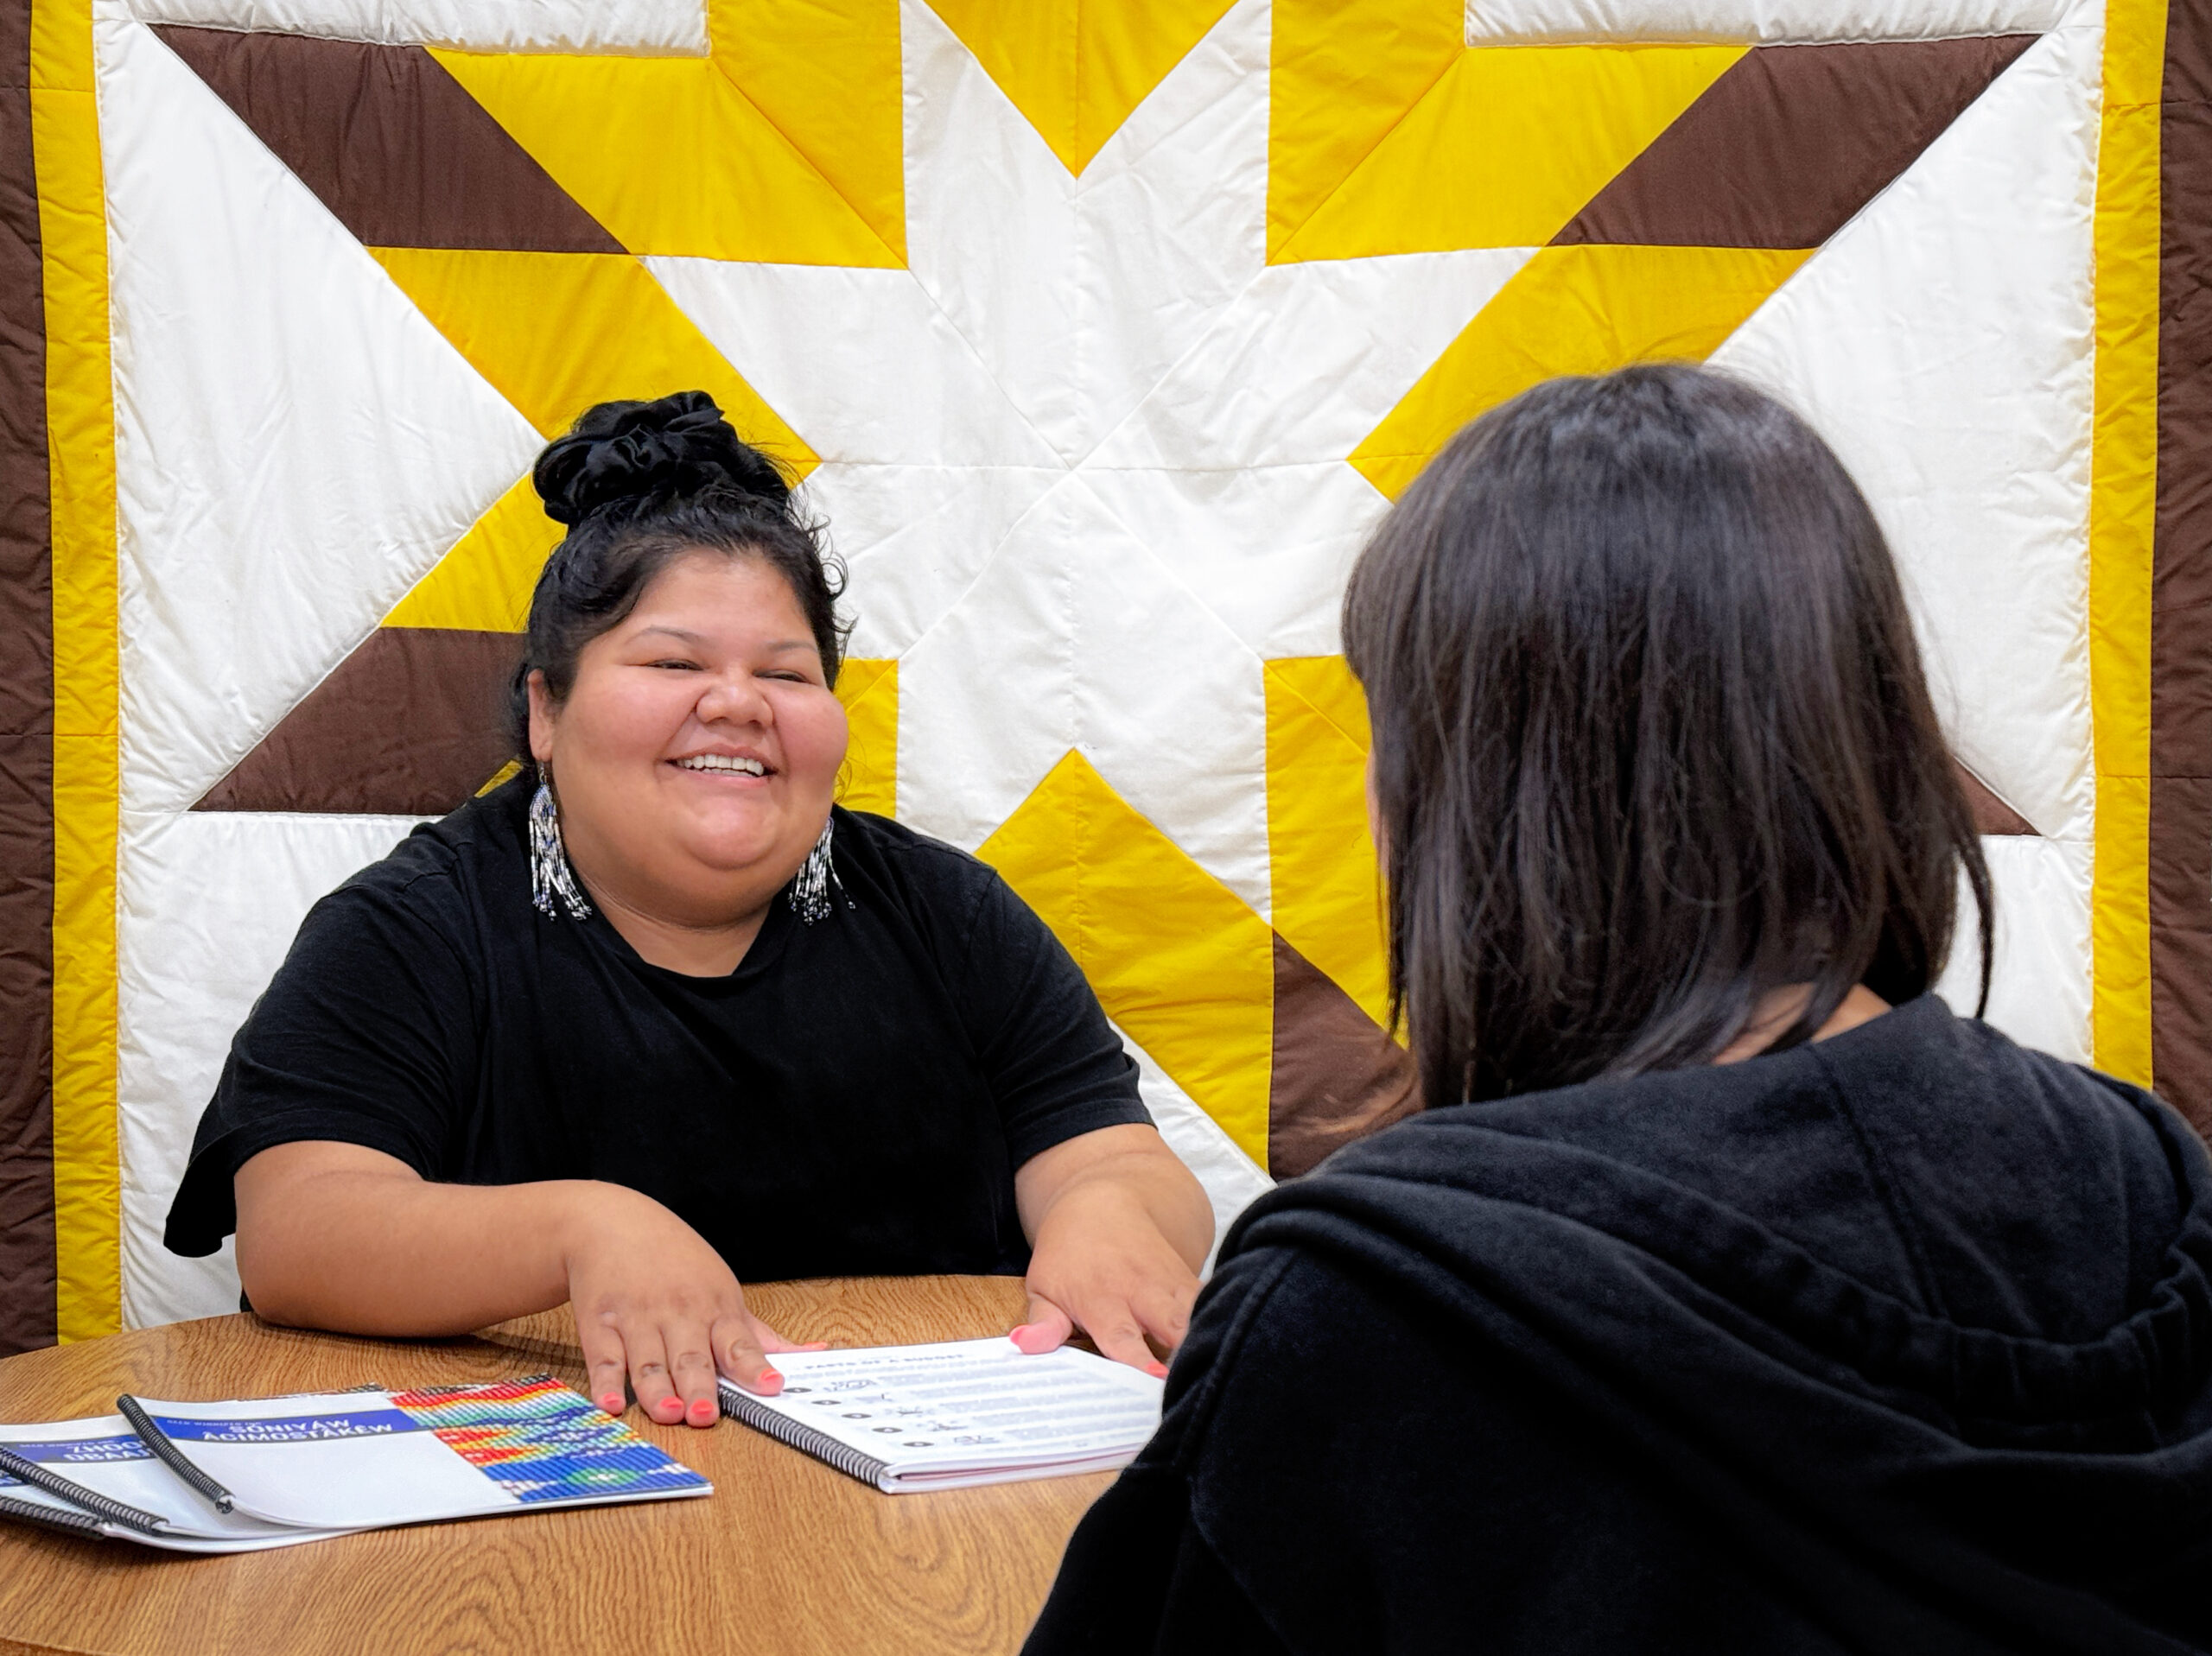
<path id="1" fill-rule="evenodd" d="M 1033 1156 L 1013 1181 L 1031 1238 L 1022 1351 L 1082 1329 L 1102 1353 L 1164 1375 L 1199 1293 L 1214 1214 L 1159 1132 L 1099 1128 Z"/>

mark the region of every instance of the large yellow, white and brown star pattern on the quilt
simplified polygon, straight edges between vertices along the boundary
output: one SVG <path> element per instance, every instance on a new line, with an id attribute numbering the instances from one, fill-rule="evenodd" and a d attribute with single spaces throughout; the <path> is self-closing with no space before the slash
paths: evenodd
<path id="1" fill-rule="evenodd" d="M 779 451 L 852 568 L 847 803 L 1002 867 L 1241 1152 L 1179 1139 L 1217 1194 L 1298 1172 L 1411 1099 L 1360 535 L 1524 385 L 1708 356 L 2033 38 L 1475 51 L 1396 7 L 1376 93 L 1301 53 L 1371 2 L 1150 0 L 1119 55 L 1073 0 L 816 11 L 843 122 L 721 0 L 706 62 L 159 35 L 535 433 L 703 385 Z M 482 785 L 551 539 L 487 500 L 197 809 Z"/>

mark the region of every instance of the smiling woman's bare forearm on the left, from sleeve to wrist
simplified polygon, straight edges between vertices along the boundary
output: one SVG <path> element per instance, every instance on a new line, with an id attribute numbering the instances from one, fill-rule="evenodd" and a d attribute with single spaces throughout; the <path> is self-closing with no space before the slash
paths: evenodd
<path id="1" fill-rule="evenodd" d="M 431 1185 L 356 1145 L 296 1143 L 239 1170 L 239 1280 L 270 1322 L 467 1333 L 568 1298 L 588 1181 Z"/>

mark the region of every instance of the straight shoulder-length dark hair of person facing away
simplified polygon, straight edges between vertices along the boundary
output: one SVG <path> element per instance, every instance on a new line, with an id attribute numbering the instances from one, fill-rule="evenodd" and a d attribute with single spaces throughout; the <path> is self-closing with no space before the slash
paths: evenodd
<path id="1" fill-rule="evenodd" d="M 1429 1103 L 1712 1061 L 1761 995 L 1929 988 L 1991 893 L 1882 531 L 1825 442 L 1708 369 L 1475 420 L 1345 593 L 1394 1015 Z M 1770 1048 L 1772 1050 L 1772 1048 Z"/>

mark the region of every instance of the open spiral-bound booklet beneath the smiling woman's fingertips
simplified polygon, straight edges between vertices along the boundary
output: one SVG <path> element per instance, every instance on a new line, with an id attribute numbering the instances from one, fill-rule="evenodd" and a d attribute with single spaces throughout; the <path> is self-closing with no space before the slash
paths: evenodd
<path id="1" fill-rule="evenodd" d="M 783 1391 L 721 1382 L 721 1411 L 891 1495 L 1110 1472 L 1159 1426 L 1161 1382 L 1013 1340 L 779 1351 Z"/>

